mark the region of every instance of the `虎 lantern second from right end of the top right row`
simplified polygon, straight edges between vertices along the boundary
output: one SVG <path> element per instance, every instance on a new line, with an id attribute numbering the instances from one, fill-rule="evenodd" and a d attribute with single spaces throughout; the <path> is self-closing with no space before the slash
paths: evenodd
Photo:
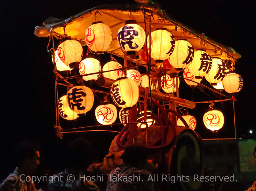
<path id="1" fill-rule="evenodd" d="M 212 67 L 207 74 L 204 75 L 204 78 L 211 84 L 217 85 L 218 82 L 223 80 L 227 72 L 227 65 L 218 57 L 212 57 Z"/>

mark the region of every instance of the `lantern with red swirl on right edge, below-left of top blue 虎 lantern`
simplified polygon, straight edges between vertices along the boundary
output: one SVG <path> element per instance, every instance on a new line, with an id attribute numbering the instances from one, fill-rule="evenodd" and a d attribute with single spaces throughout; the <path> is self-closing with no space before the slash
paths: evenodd
<path id="1" fill-rule="evenodd" d="M 118 68 L 122 68 L 122 65 L 119 64 L 118 62 L 110 61 L 110 62 L 106 63 L 103 66 L 102 71 L 104 73 L 102 73 L 102 75 L 105 78 L 109 78 L 109 79 L 112 79 L 112 80 L 116 80 L 117 78 L 121 78 L 122 75 L 123 75 L 123 72 L 121 70 L 115 70 L 115 69 L 118 69 Z M 115 71 L 105 72 L 105 71 L 109 71 L 109 70 L 115 70 Z"/>

